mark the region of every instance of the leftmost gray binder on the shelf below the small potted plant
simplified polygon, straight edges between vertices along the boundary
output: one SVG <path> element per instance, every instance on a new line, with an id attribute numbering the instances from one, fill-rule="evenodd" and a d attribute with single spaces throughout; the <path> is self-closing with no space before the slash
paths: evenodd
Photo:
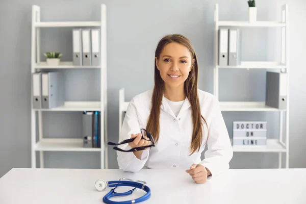
<path id="1" fill-rule="evenodd" d="M 41 108 L 41 72 L 32 74 L 33 109 Z"/>

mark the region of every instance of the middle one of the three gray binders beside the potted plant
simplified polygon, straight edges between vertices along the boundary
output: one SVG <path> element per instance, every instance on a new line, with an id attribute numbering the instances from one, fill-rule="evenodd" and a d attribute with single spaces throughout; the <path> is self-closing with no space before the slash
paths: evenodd
<path id="1" fill-rule="evenodd" d="M 90 29 L 82 30 L 83 65 L 91 65 L 91 38 Z"/>

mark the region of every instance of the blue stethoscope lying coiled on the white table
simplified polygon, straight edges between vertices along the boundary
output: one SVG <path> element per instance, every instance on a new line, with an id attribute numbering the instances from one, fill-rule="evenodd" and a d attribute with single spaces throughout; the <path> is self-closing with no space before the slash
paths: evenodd
<path id="1" fill-rule="evenodd" d="M 113 203 L 130 204 L 130 203 L 142 202 L 144 200 L 149 199 L 149 197 L 151 196 L 151 190 L 148 186 L 146 186 L 146 182 L 132 181 L 131 179 L 126 179 L 126 178 L 121 178 L 119 179 L 119 181 L 108 181 L 108 182 L 104 180 L 97 180 L 94 186 L 98 191 L 104 191 L 107 187 L 115 187 L 103 197 L 103 201 L 109 204 L 113 204 Z M 134 187 L 134 189 L 124 192 L 124 193 L 117 193 L 115 192 L 115 189 L 118 186 L 130 186 L 130 187 Z M 127 201 L 119 201 L 119 202 L 110 200 L 111 197 L 115 197 L 115 196 L 131 195 L 136 188 L 144 190 L 146 194 L 135 200 L 127 200 Z"/>

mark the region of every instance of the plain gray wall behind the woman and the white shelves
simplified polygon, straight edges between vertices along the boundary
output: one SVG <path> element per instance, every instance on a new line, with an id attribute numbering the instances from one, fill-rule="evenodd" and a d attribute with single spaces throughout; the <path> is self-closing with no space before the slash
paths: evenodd
<path id="1" fill-rule="evenodd" d="M 193 43 L 199 59 L 199 88 L 213 92 L 214 5 L 220 20 L 246 20 L 247 1 L 18 1 L 0 3 L 0 177 L 14 167 L 31 167 L 31 7 L 41 7 L 42 21 L 99 20 L 107 5 L 108 139 L 118 140 L 118 91 L 126 100 L 154 85 L 154 52 L 161 37 L 181 33 Z M 306 75 L 303 0 L 257 0 L 258 20 L 280 20 L 282 4 L 290 9 L 290 167 L 306 167 L 302 121 Z M 280 29 L 243 30 L 243 60 L 279 60 Z M 43 29 L 41 53 L 61 50 L 72 60 L 71 29 Z M 42 54 L 41 54 L 42 55 Z M 99 70 L 65 70 L 66 100 L 98 100 Z M 68 77 L 69 76 L 69 77 Z M 90 79 L 88 81 L 87 79 Z M 230 91 L 226 89 L 229 88 Z M 265 70 L 221 70 L 220 100 L 264 100 Z M 81 137 L 81 113 L 43 113 L 46 137 Z M 270 138 L 278 134 L 278 113 L 224 112 L 229 132 L 233 120 L 267 120 Z M 230 134 L 232 136 L 232 134 Z M 277 154 L 235 153 L 231 168 L 276 168 Z M 118 168 L 109 150 L 109 167 Z M 46 152 L 46 168 L 99 168 L 97 152 Z"/>

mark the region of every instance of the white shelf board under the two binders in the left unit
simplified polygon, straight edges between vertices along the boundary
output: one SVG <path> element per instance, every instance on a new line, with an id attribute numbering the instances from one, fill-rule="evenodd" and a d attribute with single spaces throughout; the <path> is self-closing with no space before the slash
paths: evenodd
<path id="1" fill-rule="evenodd" d="M 100 101 L 65 101 L 64 106 L 52 109 L 34 109 L 36 111 L 100 111 Z"/>

